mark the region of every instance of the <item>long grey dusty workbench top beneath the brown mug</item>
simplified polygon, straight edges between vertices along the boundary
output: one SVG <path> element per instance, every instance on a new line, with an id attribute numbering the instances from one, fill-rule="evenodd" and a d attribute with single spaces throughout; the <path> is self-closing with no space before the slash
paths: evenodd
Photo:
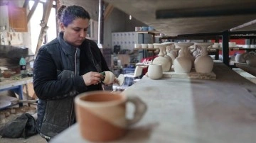
<path id="1" fill-rule="evenodd" d="M 124 93 L 142 98 L 148 110 L 115 142 L 254 143 L 256 85 L 223 63 L 215 63 L 213 71 L 216 79 L 144 77 L 127 88 Z M 78 124 L 51 141 L 88 142 Z"/>

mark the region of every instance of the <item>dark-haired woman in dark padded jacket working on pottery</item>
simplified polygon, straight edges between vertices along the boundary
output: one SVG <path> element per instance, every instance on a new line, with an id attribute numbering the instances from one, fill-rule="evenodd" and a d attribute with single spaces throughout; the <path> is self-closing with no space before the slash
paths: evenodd
<path id="1" fill-rule="evenodd" d="M 46 140 L 75 123 L 75 96 L 102 90 L 100 72 L 110 70 L 97 44 L 85 39 L 89 13 L 81 6 L 60 9 L 61 32 L 38 50 L 33 67 L 33 86 L 39 98 L 37 128 Z"/>

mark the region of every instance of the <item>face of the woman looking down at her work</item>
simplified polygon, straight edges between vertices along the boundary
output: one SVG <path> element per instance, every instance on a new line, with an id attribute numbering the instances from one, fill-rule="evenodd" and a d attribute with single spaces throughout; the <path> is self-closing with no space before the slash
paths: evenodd
<path id="1" fill-rule="evenodd" d="M 64 33 L 63 38 L 65 42 L 75 47 L 80 46 L 85 40 L 88 27 L 89 19 L 87 18 L 75 18 L 67 27 L 63 23 L 60 23 L 60 30 Z"/>

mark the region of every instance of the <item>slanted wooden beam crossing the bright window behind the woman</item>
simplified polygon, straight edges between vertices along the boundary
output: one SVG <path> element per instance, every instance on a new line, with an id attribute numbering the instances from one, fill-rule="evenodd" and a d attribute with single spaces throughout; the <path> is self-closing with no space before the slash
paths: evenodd
<path id="1" fill-rule="evenodd" d="M 42 18 L 42 21 L 41 21 L 41 24 L 40 24 L 41 25 L 41 32 L 39 34 L 38 44 L 36 45 L 35 55 L 37 55 L 37 52 L 38 52 L 39 48 L 42 45 L 43 37 L 46 35 L 46 31 L 48 30 L 47 23 L 48 23 L 48 19 L 49 19 L 49 16 L 50 16 L 50 10 L 53 7 L 53 1 L 54 0 L 46 1 L 46 7 L 44 8 L 43 18 Z"/>

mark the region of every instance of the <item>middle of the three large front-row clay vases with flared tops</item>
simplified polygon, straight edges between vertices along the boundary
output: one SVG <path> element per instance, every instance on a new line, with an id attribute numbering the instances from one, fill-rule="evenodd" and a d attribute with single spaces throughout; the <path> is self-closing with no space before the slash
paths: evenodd
<path id="1" fill-rule="evenodd" d="M 174 45 L 181 48 L 181 50 L 178 52 L 178 57 L 174 59 L 174 71 L 176 73 L 190 72 L 192 62 L 190 57 L 188 57 L 188 47 L 193 45 L 193 42 L 178 42 Z"/>

